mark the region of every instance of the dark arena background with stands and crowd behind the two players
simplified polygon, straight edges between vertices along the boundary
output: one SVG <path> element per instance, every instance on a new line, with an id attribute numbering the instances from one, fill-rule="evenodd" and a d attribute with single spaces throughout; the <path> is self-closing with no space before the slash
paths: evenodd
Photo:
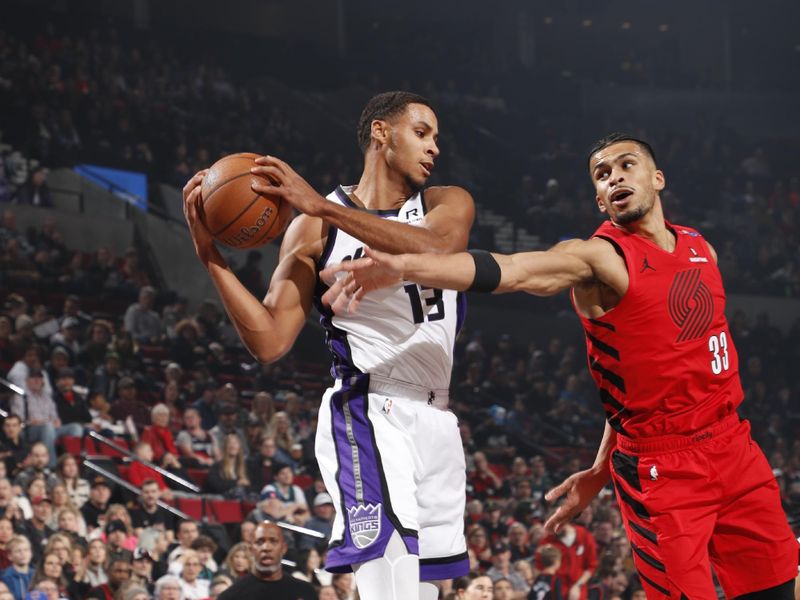
<path id="1" fill-rule="evenodd" d="M 45 590 L 4 575 L 3 600 L 55 598 L 43 580 L 71 599 L 176 597 L 177 585 L 216 597 L 248 570 L 264 518 L 295 526 L 287 572 L 319 598 L 357 597 L 352 575 L 315 570 L 332 514 L 314 457 L 330 382 L 318 315 L 284 358 L 258 364 L 195 256 L 180 190 L 233 152 L 280 157 L 323 195 L 355 184 L 358 114 L 394 89 L 437 110 L 429 183 L 474 196 L 471 248 L 590 236 L 589 147 L 617 130 L 651 141 L 667 218 L 717 250 L 740 414 L 800 532 L 797 2 L 7 0 L 2 13 L 0 566 L 13 533 L 28 538 L 25 585 Z M 263 296 L 278 247 L 223 252 Z M 527 598 L 544 493 L 591 465 L 605 415 L 567 294 L 468 303 L 450 391 L 469 557 L 513 583 L 495 598 Z M 39 369 L 58 414 L 28 404 Z M 223 459 L 230 433 L 240 451 Z M 283 465 L 298 486 L 289 510 L 268 487 Z M 141 508 L 148 479 L 156 516 Z M 613 490 L 576 524 L 591 534 L 582 597 L 643 597 Z M 205 587 L 176 575 L 190 547 Z M 119 558 L 132 574 L 112 573 Z"/>

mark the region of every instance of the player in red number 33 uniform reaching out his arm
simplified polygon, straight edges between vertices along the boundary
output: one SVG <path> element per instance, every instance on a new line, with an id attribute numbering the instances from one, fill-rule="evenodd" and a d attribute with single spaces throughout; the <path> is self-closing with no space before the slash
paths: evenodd
<path id="1" fill-rule="evenodd" d="M 367 251 L 332 267 L 351 274 L 329 290 L 337 311 L 410 280 L 456 290 L 571 288 L 589 368 L 607 423 L 594 465 L 551 490 L 566 495 L 548 521 L 558 530 L 609 480 L 648 598 L 793 598 L 797 541 L 750 426 L 725 319 L 714 249 L 664 219 L 664 174 L 646 142 L 612 134 L 589 156 L 597 205 L 608 215 L 589 240 L 547 252 L 447 256 Z"/>

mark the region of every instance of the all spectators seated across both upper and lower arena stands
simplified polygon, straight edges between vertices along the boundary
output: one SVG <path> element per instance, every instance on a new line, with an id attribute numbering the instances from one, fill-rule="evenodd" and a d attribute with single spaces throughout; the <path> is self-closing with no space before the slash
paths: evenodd
<path id="1" fill-rule="evenodd" d="M 114 28 L 0 28 L 0 112 L 13 116 L 3 136 L 37 161 L 0 151 L 0 203 L 51 205 L 47 168 L 83 161 L 182 186 L 214 158 L 264 140 L 276 155 L 303 157 L 296 166 L 320 191 L 353 181 L 354 134 L 323 152 L 302 119 L 271 105 L 269 84 L 124 36 Z M 463 110 L 465 121 L 490 114 L 494 123 L 511 110 L 489 88 L 422 81 L 420 89 L 445 112 Z M 586 140 L 534 127 L 524 158 L 508 161 L 514 179 L 479 168 L 480 154 L 468 160 L 474 148 L 459 137 L 465 131 L 445 138 L 451 147 L 437 180 L 467 185 L 545 246 L 593 231 L 598 215 L 576 171 Z M 639 133 L 664 150 L 668 218 L 707 233 L 728 291 L 800 296 L 800 183 L 785 147 L 711 127 L 694 137 Z M 20 231 L 13 208 L 3 209 L 0 374 L 25 394 L 0 386 L 8 412 L 0 600 L 216 598 L 250 571 L 256 523 L 265 518 L 318 532 L 286 532 L 293 574 L 321 599 L 352 598 L 350 575 L 320 570 L 334 513 L 313 456 L 326 365 L 296 354 L 254 364 L 215 301 L 190 312 L 186 298 L 158 289 L 143 262 L 135 248 L 123 256 L 74 251 L 52 220 Z M 255 265 L 239 274 L 263 285 Z M 746 391 L 741 412 L 797 530 L 800 323 L 781 332 L 767 315 L 740 312 L 731 328 Z M 457 341 L 452 403 L 467 457 L 474 575 L 455 582 L 454 594 L 493 588 L 496 600 L 548 590 L 566 597 L 578 586 L 592 599 L 642 598 L 611 490 L 559 535 L 544 531 L 552 510 L 544 493 L 591 462 L 603 427 L 584 350 L 570 339 L 522 343 L 468 328 Z M 90 446 L 90 432 L 140 460 Z M 115 477 L 88 467 L 87 457 Z M 203 515 L 206 503 L 224 501 L 246 514 L 237 523 L 180 518 L 163 504 L 180 510 L 198 498 L 183 481 L 200 487 Z"/>

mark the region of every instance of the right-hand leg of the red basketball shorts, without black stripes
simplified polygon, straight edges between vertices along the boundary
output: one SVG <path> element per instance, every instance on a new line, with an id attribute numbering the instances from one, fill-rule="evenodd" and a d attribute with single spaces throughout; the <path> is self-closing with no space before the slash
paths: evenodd
<path id="1" fill-rule="evenodd" d="M 711 539 L 711 560 L 728 597 L 780 585 L 797 573 L 797 540 L 761 449 L 749 436 L 732 437 L 717 458 L 727 490 Z"/>

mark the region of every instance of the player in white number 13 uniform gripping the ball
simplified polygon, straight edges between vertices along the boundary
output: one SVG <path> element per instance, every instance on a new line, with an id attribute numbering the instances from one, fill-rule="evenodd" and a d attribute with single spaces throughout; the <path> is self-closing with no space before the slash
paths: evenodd
<path id="1" fill-rule="evenodd" d="M 254 185 L 301 213 L 287 230 L 266 297 L 253 297 L 214 247 L 199 214 L 197 173 L 183 190 L 184 213 L 242 341 L 261 362 L 292 346 L 316 302 L 333 355 L 334 385 L 320 407 L 316 454 L 336 519 L 326 568 L 353 570 L 363 600 L 433 600 L 432 581 L 469 570 L 463 536 L 464 454 L 447 410 L 461 297 L 416 284 L 384 290 L 357 314 L 334 316 L 319 299 L 329 264 L 364 246 L 387 252 L 462 251 L 474 219 L 458 187 L 423 191 L 439 155 L 427 100 L 406 92 L 372 98 L 358 125 L 364 171 L 357 185 L 317 194 L 274 157 Z M 331 282 L 328 282 L 331 283 Z"/>

